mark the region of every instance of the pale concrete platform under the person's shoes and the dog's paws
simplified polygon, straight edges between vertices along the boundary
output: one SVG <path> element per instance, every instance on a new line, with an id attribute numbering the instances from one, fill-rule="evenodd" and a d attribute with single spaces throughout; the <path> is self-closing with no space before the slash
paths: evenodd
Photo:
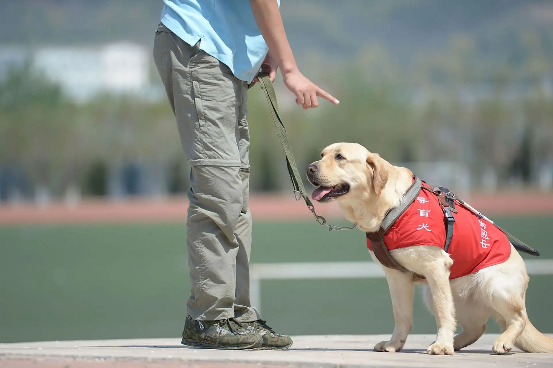
<path id="1" fill-rule="evenodd" d="M 156 367 L 521 367 L 553 368 L 553 354 L 513 351 L 494 355 L 497 335 L 484 335 L 453 356 L 426 354 L 434 335 L 410 335 L 401 353 L 377 353 L 373 346 L 389 335 L 296 336 L 285 351 L 207 350 L 180 339 L 44 341 L 0 344 L 0 367 L 156 368 Z"/>

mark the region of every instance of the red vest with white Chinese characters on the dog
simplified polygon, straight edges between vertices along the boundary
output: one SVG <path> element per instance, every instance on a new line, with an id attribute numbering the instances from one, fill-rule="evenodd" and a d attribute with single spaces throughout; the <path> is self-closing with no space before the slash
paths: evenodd
<path id="1" fill-rule="evenodd" d="M 415 201 L 384 235 L 384 244 L 388 250 L 415 245 L 435 245 L 444 249 L 444 211 L 430 187 L 426 183 L 422 185 L 429 191 L 421 189 Z M 450 280 L 507 261 L 511 254 L 507 235 L 455 202 L 458 213 L 453 213 L 453 238 L 448 249 L 453 260 Z M 367 247 L 372 250 L 369 239 Z"/>

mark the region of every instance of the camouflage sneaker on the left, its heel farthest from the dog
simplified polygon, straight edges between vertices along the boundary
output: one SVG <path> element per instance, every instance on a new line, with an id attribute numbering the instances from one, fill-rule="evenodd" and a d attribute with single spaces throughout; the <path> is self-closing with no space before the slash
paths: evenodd
<path id="1" fill-rule="evenodd" d="M 234 318 L 198 320 L 187 316 L 181 343 L 205 349 L 252 349 L 263 344 L 263 338 Z"/>

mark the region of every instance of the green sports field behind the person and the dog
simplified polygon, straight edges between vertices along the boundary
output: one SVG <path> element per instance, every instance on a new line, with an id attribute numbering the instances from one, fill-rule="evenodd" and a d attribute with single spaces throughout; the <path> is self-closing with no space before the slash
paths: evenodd
<path id="1" fill-rule="evenodd" d="M 553 259 L 553 218 L 496 220 Z M 190 289 L 185 235 L 184 224 L 0 227 L 0 342 L 178 337 Z M 370 260 L 358 230 L 255 223 L 253 236 L 252 262 Z M 531 276 L 526 299 L 530 319 L 549 333 L 552 282 Z M 413 332 L 434 333 L 415 299 Z M 384 278 L 263 281 L 262 303 L 269 325 L 289 334 L 393 329 Z"/>

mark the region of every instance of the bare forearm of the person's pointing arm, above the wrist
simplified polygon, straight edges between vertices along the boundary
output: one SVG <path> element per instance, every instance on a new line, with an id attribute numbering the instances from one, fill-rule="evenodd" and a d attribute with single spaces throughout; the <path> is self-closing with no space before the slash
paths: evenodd
<path id="1" fill-rule="evenodd" d="M 249 3 L 257 27 L 280 71 L 285 74 L 298 70 L 276 0 L 249 0 Z"/>

